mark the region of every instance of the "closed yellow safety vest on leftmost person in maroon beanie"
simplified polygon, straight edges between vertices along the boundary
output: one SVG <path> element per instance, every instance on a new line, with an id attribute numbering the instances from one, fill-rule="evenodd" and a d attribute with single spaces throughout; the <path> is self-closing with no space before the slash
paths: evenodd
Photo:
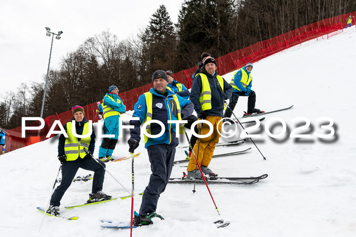
<path id="1" fill-rule="evenodd" d="M 89 132 L 89 123 L 84 123 L 83 135 L 88 134 Z M 89 149 L 89 144 L 91 141 L 91 136 L 87 138 L 80 139 L 78 142 L 78 138 L 74 137 L 72 132 L 72 122 L 67 123 L 67 134 L 68 138 L 66 138 L 66 142 L 64 144 L 64 153 L 67 156 L 67 161 L 76 160 L 78 156 L 80 158 L 84 158 L 86 156 L 83 148 Z"/>

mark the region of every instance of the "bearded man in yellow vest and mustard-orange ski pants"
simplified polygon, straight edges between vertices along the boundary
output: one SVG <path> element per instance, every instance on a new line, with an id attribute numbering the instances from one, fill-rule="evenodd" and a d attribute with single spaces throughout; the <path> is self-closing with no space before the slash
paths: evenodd
<path id="1" fill-rule="evenodd" d="M 194 104 L 198 119 L 207 120 L 214 127 L 211 136 L 201 138 L 193 147 L 194 154 L 198 156 L 202 172 L 209 176 L 217 176 L 208 168 L 208 165 L 213 157 L 216 144 L 219 142 L 219 132 L 221 132 L 222 125 L 222 122 L 219 123 L 219 121 L 223 117 L 225 99 L 229 99 L 232 93 L 231 85 L 218 75 L 216 69 L 217 64 L 215 59 L 210 56 L 205 57 L 201 73 L 195 77 L 190 91 L 190 101 Z M 198 130 L 201 134 L 206 134 L 210 131 L 210 128 L 207 124 L 203 126 L 198 124 Z M 187 168 L 187 178 L 202 179 L 200 171 L 196 166 L 195 158 L 192 154 Z"/>

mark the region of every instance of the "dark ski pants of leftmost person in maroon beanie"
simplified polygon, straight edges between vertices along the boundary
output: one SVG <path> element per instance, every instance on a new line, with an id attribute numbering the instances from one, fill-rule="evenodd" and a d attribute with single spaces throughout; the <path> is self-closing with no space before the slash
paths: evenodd
<path id="1" fill-rule="evenodd" d="M 99 162 L 106 167 L 103 161 L 99 160 Z M 92 193 L 96 193 L 103 189 L 105 170 L 93 158 L 85 158 L 80 161 L 66 161 L 62 164 L 62 182 L 60 186 L 54 190 L 50 205 L 56 207 L 61 205 L 61 199 L 72 184 L 79 168 L 83 168 L 86 171 L 94 171 Z"/>

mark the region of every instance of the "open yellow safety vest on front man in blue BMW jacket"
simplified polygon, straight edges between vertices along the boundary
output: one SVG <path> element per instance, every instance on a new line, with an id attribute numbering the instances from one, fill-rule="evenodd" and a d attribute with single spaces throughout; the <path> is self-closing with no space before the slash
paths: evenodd
<path id="1" fill-rule="evenodd" d="M 147 121 L 152 120 L 152 104 L 153 104 L 153 98 L 152 97 L 153 96 L 152 96 L 151 92 L 146 92 L 146 93 L 143 93 L 143 94 L 144 94 L 144 97 L 146 98 L 146 108 L 147 108 L 146 118 L 142 122 L 142 123 L 145 123 Z M 182 117 L 181 117 L 181 106 L 179 104 L 178 97 L 177 97 L 176 94 L 173 94 L 172 96 L 173 96 L 173 100 L 174 100 L 174 102 L 175 102 L 175 104 L 177 106 L 176 110 L 177 110 L 178 120 L 182 120 Z M 168 103 L 167 98 L 166 98 L 166 101 L 167 101 L 167 105 L 169 107 L 169 103 Z M 169 113 L 169 116 L 170 116 L 170 113 Z M 171 120 L 171 119 L 169 119 L 169 120 Z M 171 124 L 169 125 L 169 130 L 170 130 L 170 126 L 171 126 Z M 146 132 L 151 134 L 151 124 L 146 126 Z M 184 125 L 183 124 L 179 126 L 179 133 L 180 134 L 184 133 Z M 144 143 L 146 143 L 148 140 L 149 140 L 149 137 L 144 135 Z"/>

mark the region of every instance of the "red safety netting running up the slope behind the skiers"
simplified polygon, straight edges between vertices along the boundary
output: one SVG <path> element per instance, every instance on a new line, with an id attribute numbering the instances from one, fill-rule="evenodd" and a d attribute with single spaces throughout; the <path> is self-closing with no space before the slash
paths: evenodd
<path id="1" fill-rule="evenodd" d="M 312 39 L 329 39 L 330 36 L 336 35 L 340 30 L 346 27 L 346 19 L 351 15 L 353 18 L 353 25 L 355 24 L 354 17 L 356 12 L 349 14 L 343 14 L 340 16 L 323 19 L 318 22 L 302 26 L 298 29 L 291 30 L 280 36 L 274 37 L 269 40 L 260 41 L 254 45 L 248 46 L 246 48 L 240 49 L 235 52 L 228 53 L 224 56 L 216 58 L 217 71 L 220 75 L 224 75 L 240 69 L 245 66 L 247 62 L 256 62 L 265 57 L 271 56 L 275 53 L 286 50 L 290 47 L 302 44 L 303 42 Z M 174 79 L 183 83 L 188 89 L 192 86 L 192 75 L 194 74 L 197 66 L 192 67 L 188 70 L 183 70 L 174 74 Z M 120 93 L 120 97 L 123 99 L 127 110 L 133 110 L 138 97 L 150 90 L 153 87 L 153 83 Z M 83 107 L 85 112 L 85 118 L 87 120 L 92 120 L 93 122 L 98 121 L 97 114 L 97 104 L 93 103 Z M 44 128 L 38 132 L 38 130 L 26 130 L 25 138 L 21 137 L 22 127 L 17 127 L 10 129 L 6 134 L 6 152 L 13 151 L 15 149 L 24 147 L 34 143 L 32 138 L 38 138 L 38 141 L 46 140 L 46 136 L 51 126 L 55 120 L 60 120 L 61 124 L 64 125 L 73 117 L 71 111 L 66 111 L 58 115 L 48 116 L 44 119 Z M 26 124 L 26 126 L 39 126 L 40 122 L 32 122 Z M 60 130 L 56 125 L 54 130 Z"/>

